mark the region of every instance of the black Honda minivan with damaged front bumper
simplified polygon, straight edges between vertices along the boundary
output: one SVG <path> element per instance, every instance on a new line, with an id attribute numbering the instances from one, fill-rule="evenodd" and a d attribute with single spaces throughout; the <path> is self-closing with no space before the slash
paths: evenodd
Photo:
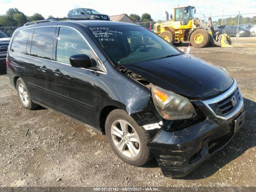
<path id="1" fill-rule="evenodd" d="M 6 64 L 26 109 L 44 106 L 106 134 L 128 164 L 155 157 L 165 176 L 185 176 L 244 124 L 240 89 L 224 68 L 135 24 L 26 24 Z"/>

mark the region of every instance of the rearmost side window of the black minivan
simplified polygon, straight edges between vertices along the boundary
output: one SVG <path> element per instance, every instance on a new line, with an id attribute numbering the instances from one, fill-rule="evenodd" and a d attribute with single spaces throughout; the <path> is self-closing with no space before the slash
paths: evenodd
<path id="1" fill-rule="evenodd" d="M 27 41 L 30 29 L 17 31 L 12 40 L 11 51 L 19 54 L 26 54 Z"/>

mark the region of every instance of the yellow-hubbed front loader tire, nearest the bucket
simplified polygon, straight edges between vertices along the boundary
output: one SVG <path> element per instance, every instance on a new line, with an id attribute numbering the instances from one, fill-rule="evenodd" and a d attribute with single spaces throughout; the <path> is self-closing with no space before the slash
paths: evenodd
<path id="1" fill-rule="evenodd" d="M 210 35 L 205 29 L 197 29 L 190 36 L 190 42 L 194 48 L 205 47 L 209 41 Z"/>

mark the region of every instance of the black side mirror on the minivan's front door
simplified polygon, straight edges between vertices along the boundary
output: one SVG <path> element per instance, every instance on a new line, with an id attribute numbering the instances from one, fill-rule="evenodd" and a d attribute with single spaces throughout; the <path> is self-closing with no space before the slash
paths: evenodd
<path id="1" fill-rule="evenodd" d="M 91 67 L 91 59 L 86 54 L 72 55 L 70 56 L 69 61 L 72 67 L 77 67 L 77 68 Z"/>

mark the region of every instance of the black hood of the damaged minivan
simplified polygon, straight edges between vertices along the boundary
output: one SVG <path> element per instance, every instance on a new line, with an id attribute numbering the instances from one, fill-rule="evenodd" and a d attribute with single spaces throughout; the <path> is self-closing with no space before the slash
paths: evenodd
<path id="1" fill-rule="evenodd" d="M 215 96 L 233 84 L 227 72 L 190 54 L 123 66 L 156 86 L 189 98 Z"/>

